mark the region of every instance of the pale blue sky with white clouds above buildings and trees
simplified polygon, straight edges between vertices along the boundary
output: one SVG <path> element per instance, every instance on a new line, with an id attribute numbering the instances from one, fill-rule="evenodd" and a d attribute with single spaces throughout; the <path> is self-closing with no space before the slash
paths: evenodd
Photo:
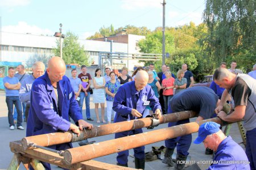
<path id="1" fill-rule="evenodd" d="M 163 0 L 0 0 L 2 31 L 50 35 L 72 31 L 84 39 L 100 27 L 162 27 Z M 202 22 L 204 0 L 166 0 L 166 26 Z"/>

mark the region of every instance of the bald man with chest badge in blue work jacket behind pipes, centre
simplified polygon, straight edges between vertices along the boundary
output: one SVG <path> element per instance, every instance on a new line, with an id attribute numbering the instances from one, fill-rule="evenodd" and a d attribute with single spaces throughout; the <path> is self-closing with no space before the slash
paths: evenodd
<path id="1" fill-rule="evenodd" d="M 146 71 L 138 71 L 134 81 L 127 82 L 122 85 L 115 94 L 113 110 L 115 114 L 114 122 L 129 121 L 141 118 L 146 106 L 150 106 L 157 118 L 162 116 L 162 109 L 158 98 L 155 97 L 154 91 L 150 85 L 147 85 L 148 74 Z M 138 128 L 133 131 L 118 132 L 115 139 L 123 136 L 142 133 L 142 129 Z M 144 146 L 134 148 L 135 168 L 144 169 L 145 153 Z M 118 153 L 117 165 L 128 167 L 129 151 Z"/>

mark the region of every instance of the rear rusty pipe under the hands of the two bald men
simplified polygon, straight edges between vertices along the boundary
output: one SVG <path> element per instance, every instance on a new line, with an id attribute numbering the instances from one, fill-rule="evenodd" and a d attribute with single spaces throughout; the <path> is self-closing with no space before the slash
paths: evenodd
<path id="1" fill-rule="evenodd" d="M 177 113 L 163 115 L 159 120 L 152 118 L 142 118 L 132 121 L 111 123 L 108 125 L 95 126 L 91 130 L 81 130 L 79 137 L 77 137 L 77 135 L 71 131 L 29 136 L 22 139 L 22 147 L 24 150 L 27 150 L 28 148 L 32 148 L 31 144 L 48 147 L 55 144 L 77 142 L 87 138 L 94 138 L 97 136 L 114 134 L 117 132 L 134 130 L 142 127 L 155 126 L 167 122 L 175 122 L 196 116 L 197 113 L 195 111 L 180 111 Z"/>

